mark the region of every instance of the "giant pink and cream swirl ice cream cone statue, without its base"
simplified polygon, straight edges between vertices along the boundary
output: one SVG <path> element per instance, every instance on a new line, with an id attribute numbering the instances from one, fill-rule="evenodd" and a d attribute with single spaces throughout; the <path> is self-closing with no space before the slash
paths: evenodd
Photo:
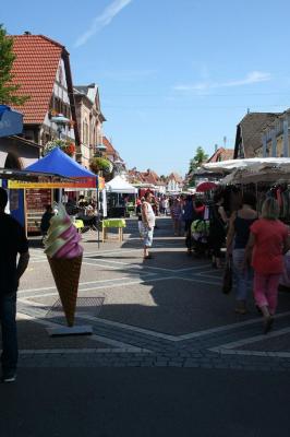
<path id="1" fill-rule="evenodd" d="M 81 235 L 67 214 L 64 206 L 59 204 L 58 210 L 58 214 L 50 220 L 45 253 L 56 281 L 68 326 L 72 327 L 83 248 L 80 246 Z"/>

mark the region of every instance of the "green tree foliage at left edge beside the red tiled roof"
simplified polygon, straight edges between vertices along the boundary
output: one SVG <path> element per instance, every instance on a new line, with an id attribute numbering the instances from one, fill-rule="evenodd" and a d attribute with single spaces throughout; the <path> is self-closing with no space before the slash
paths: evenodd
<path id="1" fill-rule="evenodd" d="M 17 91 L 21 85 L 12 84 L 11 73 L 15 60 L 13 54 L 13 38 L 7 36 L 7 31 L 0 24 L 0 104 L 2 105 L 23 105 L 29 96 L 20 96 Z"/>

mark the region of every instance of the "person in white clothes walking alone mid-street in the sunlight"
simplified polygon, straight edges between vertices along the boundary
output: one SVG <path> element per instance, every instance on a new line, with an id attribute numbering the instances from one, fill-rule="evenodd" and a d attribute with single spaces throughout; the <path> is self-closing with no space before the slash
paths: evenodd
<path id="1" fill-rule="evenodd" d="M 144 259 L 153 258 L 149 253 L 149 248 L 153 244 L 153 234 L 155 226 L 155 214 L 152 208 L 153 193 L 146 191 L 145 200 L 142 203 L 142 224 L 143 224 L 143 238 L 144 238 Z"/>

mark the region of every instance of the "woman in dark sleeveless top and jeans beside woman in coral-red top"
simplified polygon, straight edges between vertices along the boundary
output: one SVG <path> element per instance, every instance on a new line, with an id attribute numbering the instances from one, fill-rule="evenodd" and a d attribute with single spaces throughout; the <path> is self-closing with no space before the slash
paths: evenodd
<path id="1" fill-rule="evenodd" d="M 244 256 L 250 236 L 250 227 L 257 218 L 255 208 L 255 196 L 251 192 L 245 192 L 242 197 L 241 208 L 233 212 L 230 217 L 227 235 L 227 257 L 232 257 L 233 275 L 235 279 L 237 305 L 234 311 L 240 315 L 247 312 L 246 297 L 252 269 L 249 264 L 244 265 Z"/>

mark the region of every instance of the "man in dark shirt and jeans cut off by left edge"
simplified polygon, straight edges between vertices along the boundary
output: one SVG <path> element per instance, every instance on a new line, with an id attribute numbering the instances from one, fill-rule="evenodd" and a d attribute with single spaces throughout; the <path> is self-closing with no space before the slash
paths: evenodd
<path id="1" fill-rule="evenodd" d="M 2 330 L 2 382 L 16 378 L 19 357 L 16 292 L 28 260 L 28 241 L 23 227 L 4 213 L 8 194 L 0 188 L 0 323 Z M 17 255 L 20 258 L 17 261 Z"/>

